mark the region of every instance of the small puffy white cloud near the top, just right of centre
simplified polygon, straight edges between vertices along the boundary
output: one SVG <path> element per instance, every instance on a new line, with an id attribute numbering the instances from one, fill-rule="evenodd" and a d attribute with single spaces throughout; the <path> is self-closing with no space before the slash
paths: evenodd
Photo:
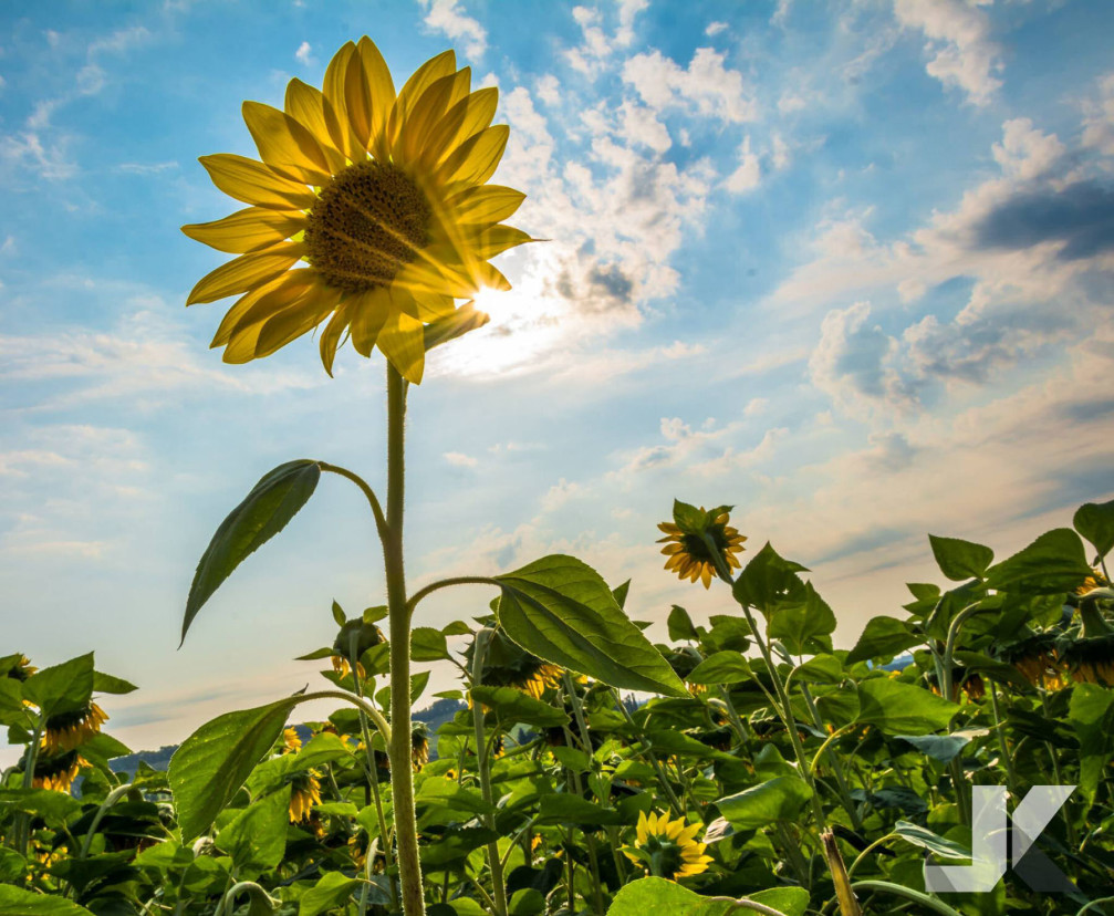
<path id="1" fill-rule="evenodd" d="M 623 80 L 652 108 L 681 108 L 691 114 L 741 124 L 756 117 L 756 106 L 743 85 L 743 75 L 724 67 L 726 56 L 697 48 L 688 67 L 661 51 L 639 53 L 623 65 Z"/>

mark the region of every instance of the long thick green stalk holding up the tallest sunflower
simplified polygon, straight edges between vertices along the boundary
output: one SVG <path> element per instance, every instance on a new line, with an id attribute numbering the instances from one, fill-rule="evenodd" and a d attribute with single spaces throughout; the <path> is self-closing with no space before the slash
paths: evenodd
<path id="1" fill-rule="evenodd" d="M 405 916 L 424 916 L 421 860 L 418 856 L 418 818 L 410 766 L 410 612 L 402 555 L 402 501 L 405 493 L 405 382 L 387 366 L 387 530 L 383 567 L 391 643 L 391 802 L 398 844 L 399 883 Z"/>

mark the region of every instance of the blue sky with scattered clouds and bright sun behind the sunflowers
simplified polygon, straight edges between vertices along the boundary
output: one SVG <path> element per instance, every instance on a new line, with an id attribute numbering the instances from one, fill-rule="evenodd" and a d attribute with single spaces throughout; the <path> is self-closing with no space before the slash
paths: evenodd
<path id="1" fill-rule="evenodd" d="M 194 566 L 274 466 L 381 487 L 382 358 L 248 366 L 184 308 L 255 155 L 244 99 L 369 35 L 395 82 L 448 47 L 500 90 L 495 181 L 540 241 L 409 416 L 408 575 L 570 553 L 665 639 L 730 596 L 662 569 L 674 497 L 803 563 L 853 644 L 939 582 L 1114 496 L 1114 4 L 1105 0 L 45 0 L 0 10 L 3 646 L 139 685 L 134 748 L 320 684 L 333 600 L 383 602 L 367 505 L 323 479 L 178 650 Z M 745 559 L 745 554 L 744 554 Z M 419 625 L 482 614 L 439 593 Z M 451 686 L 438 674 L 438 689 Z"/>

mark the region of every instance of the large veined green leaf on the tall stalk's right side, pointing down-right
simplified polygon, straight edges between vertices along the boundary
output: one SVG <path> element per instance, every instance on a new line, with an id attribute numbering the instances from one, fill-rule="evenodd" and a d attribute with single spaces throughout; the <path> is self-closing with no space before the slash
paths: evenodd
<path id="1" fill-rule="evenodd" d="M 610 686 L 688 695 L 590 566 L 555 554 L 497 579 L 499 623 L 527 652 Z"/>

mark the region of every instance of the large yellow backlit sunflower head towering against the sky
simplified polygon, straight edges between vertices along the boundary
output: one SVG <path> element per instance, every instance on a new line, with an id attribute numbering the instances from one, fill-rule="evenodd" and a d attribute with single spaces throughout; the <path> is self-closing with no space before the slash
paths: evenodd
<path id="1" fill-rule="evenodd" d="M 510 289 L 488 260 L 530 238 L 501 224 L 525 195 L 487 184 L 508 136 L 491 125 L 498 91 L 472 91 L 470 81 L 444 51 L 395 94 L 364 37 L 336 52 L 323 91 L 293 79 L 284 110 L 244 103 L 262 162 L 219 154 L 201 163 L 248 206 L 182 227 L 238 255 L 186 301 L 241 295 L 213 339 L 225 362 L 270 355 L 329 319 L 326 372 L 346 331 L 358 353 L 378 347 L 420 382 L 429 345 L 487 320 L 455 300 Z"/>

